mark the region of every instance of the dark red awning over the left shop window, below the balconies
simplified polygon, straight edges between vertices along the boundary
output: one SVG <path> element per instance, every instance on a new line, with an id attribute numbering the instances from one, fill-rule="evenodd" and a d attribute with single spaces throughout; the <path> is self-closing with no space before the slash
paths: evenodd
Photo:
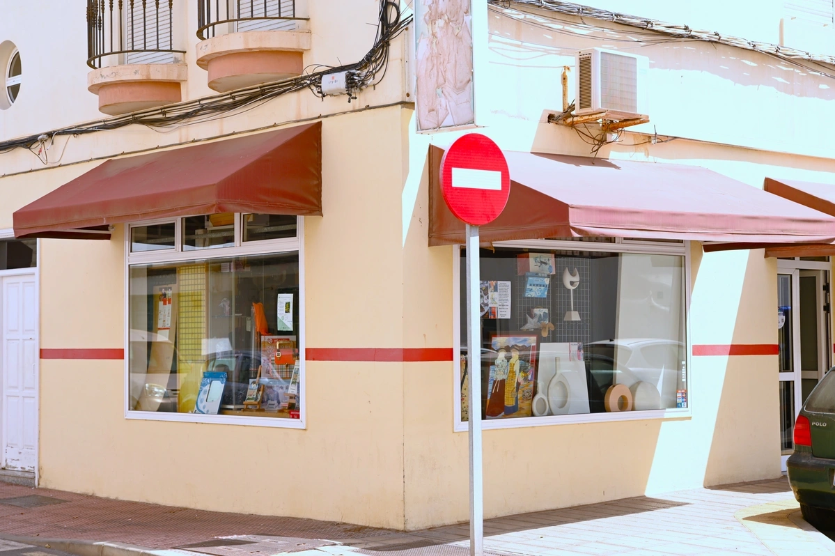
<path id="1" fill-rule="evenodd" d="M 108 160 L 17 210 L 14 235 L 108 239 L 108 225 L 221 212 L 321 215 L 321 123 Z"/>

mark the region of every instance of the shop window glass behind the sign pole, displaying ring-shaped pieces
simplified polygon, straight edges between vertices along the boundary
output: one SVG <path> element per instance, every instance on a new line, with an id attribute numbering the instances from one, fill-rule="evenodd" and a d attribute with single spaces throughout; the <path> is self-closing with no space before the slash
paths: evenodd
<path id="1" fill-rule="evenodd" d="M 483 419 L 688 407 L 685 256 L 596 249 L 481 251 Z"/>

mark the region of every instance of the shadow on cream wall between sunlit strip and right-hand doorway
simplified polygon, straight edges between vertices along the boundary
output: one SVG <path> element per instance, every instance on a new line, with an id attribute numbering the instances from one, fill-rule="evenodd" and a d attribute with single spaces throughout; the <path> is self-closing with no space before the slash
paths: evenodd
<path id="1" fill-rule="evenodd" d="M 731 342 L 777 344 L 776 260 L 748 252 Z M 771 311 L 771 309 L 774 311 Z M 770 318 L 769 318 L 770 317 Z M 773 326 L 771 326 L 773 324 Z M 704 356 L 725 361 L 705 485 L 780 475 L 777 356 Z M 708 363 L 710 364 L 710 363 Z M 719 363 L 721 364 L 721 363 Z"/>

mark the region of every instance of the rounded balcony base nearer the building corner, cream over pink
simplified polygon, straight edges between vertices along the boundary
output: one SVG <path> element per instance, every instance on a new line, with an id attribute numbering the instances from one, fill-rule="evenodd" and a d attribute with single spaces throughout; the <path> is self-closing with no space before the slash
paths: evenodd
<path id="1" fill-rule="evenodd" d="M 301 75 L 308 31 L 251 31 L 201 41 L 197 65 L 209 72 L 209 88 L 225 93 Z"/>

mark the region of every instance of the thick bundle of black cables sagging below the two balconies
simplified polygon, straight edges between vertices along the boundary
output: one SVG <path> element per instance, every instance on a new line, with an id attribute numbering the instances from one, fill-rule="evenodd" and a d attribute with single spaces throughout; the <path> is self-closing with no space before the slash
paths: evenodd
<path id="1" fill-rule="evenodd" d="M 412 16 L 402 18 L 399 5 L 392 0 L 380 0 L 378 18 L 374 44 L 371 50 L 356 63 L 334 67 L 316 65 L 313 67 L 320 69 L 303 73 L 295 78 L 254 85 L 225 94 L 170 104 L 161 108 L 141 110 L 90 124 L 53 129 L 45 134 L 51 135 L 54 141 L 56 135 L 78 136 L 96 131 L 119 129 L 131 124 L 144 125 L 150 129 L 176 128 L 181 125 L 209 122 L 232 114 L 241 114 L 283 94 L 303 89 L 309 89 L 317 97 L 323 98 L 324 95 L 321 93 L 322 77 L 326 73 L 342 71 L 347 72 L 347 94 L 350 102 L 351 99 L 356 99 L 357 91 L 362 88 L 374 87 L 385 77 L 392 40 L 397 38 L 412 23 Z M 43 148 L 43 141 L 38 139 L 42 135 L 44 133 L 0 142 L 0 154 L 8 153 L 13 149 L 28 149 L 36 154 L 33 149 L 38 144 L 42 144 Z M 41 159 L 40 154 L 36 155 L 38 159 Z M 43 162 L 43 159 L 41 161 Z"/>

